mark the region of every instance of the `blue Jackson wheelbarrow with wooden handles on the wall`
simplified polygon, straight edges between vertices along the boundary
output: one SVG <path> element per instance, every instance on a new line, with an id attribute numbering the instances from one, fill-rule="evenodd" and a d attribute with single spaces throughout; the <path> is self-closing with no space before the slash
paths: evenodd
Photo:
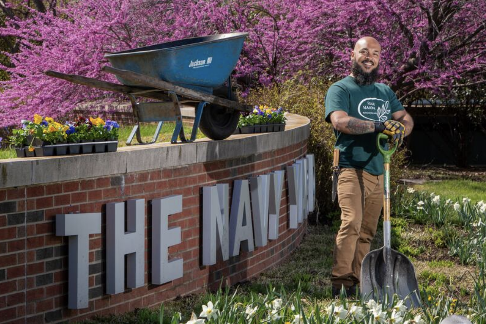
<path id="1" fill-rule="evenodd" d="M 121 85 L 52 70 L 45 73 L 128 95 L 136 124 L 127 145 L 131 145 L 134 136 L 139 144 L 156 142 L 164 121 L 175 121 L 172 143 L 177 143 L 178 137 L 180 142 L 193 141 L 198 127 L 211 139 L 225 139 L 236 129 L 240 111 L 252 110 L 251 106 L 236 101 L 229 77 L 247 35 L 230 33 L 192 37 L 106 54 L 112 66 L 105 66 L 103 70 L 115 74 Z M 147 102 L 140 98 L 156 101 Z M 184 135 L 181 104 L 195 108 L 190 139 Z M 140 122 L 158 122 L 152 141 L 142 141 Z"/>

